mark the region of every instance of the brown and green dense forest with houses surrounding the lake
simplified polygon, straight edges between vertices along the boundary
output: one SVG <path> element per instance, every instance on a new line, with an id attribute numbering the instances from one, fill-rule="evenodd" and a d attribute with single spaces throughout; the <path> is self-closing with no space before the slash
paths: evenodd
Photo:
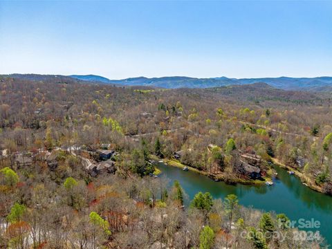
<path id="1" fill-rule="evenodd" d="M 270 181 L 277 163 L 332 195 L 331 103 L 330 93 L 264 83 L 0 77 L 0 248 L 319 248 L 292 239 L 286 214 L 234 195 L 200 192 L 185 206 L 155 163 L 245 184 Z"/>

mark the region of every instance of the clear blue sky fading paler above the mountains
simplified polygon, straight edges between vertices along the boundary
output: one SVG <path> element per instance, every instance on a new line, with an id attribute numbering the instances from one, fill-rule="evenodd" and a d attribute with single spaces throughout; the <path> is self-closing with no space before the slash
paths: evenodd
<path id="1" fill-rule="evenodd" d="M 332 1 L 1 1 L 0 73 L 332 76 Z"/>

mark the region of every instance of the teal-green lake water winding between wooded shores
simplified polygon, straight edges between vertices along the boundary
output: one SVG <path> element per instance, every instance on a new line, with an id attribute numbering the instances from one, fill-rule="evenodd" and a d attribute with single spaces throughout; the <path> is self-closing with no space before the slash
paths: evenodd
<path id="1" fill-rule="evenodd" d="M 274 210 L 277 214 L 284 213 L 289 219 L 297 222 L 299 219 L 320 221 L 320 228 L 309 230 L 319 230 L 327 243 L 332 244 L 332 197 L 309 189 L 299 178 L 289 175 L 284 169 L 275 166 L 278 178 L 273 180 L 273 186 L 254 186 L 214 182 L 207 176 L 191 171 L 183 172 L 180 168 L 163 163 L 159 163 L 158 168 L 162 171 L 161 176 L 169 178 L 171 183 L 177 180 L 190 200 L 200 191 L 210 192 L 215 199 L 236 194 L 239 203 L 247 207 Z M 188 205 L 190 200 L 185 204 Z"/>

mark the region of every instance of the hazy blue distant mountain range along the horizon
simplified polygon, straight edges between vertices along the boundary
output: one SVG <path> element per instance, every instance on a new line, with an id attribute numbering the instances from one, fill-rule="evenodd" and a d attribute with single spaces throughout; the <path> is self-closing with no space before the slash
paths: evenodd
<path id="1" fill-rule="evenodd" d="M 102 82 L 106 84 L 120 84 L 125 86 L 156 86 L 167 89 L 178 88 L 210 88 L 216 86 L 230 86 L 254 84 L 264 82 L 277 89 L 302 91 L 332 91 L 332 77 L 266 77 L 234 79 L 228 77 L 194 78 L 194 77 L 133 77 L 124 80 L 109 80 L 98 75 L 69 75 L 77 80 Z"/>

